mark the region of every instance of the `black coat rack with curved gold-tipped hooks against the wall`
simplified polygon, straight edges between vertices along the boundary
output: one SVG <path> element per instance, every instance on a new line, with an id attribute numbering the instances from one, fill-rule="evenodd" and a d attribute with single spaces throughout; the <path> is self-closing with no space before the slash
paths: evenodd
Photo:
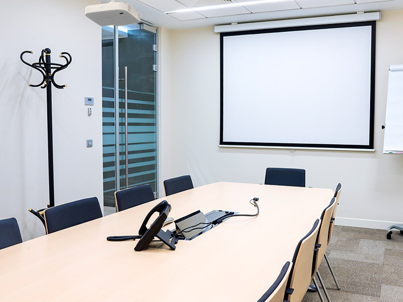
<path id="1" fill-rule="evenodd" d="M 48 152 L 48 171 L 49 171 L 49 205 L 48 207 L 54 206 L 54 176 L 53 176 L 53 130 L 52 130 L 52 84 L 57 89 L 63 89 L 67 85 L 58 85 L 54 81 L 54 75 L 56 72 L 65 69 L 72 62 L 72 56 L 68 52 L 61 52 L 59 57 L 65 59 L 65 64 L 52 63 L 50 61 L 50 49 L 42 49 L 41 55 L 39 56 L 38 62 L 30 64 L 23 59 L 25 53 L 33 53 L 32 51 L 23 51 L 20 55 L 21 61 L 24 64 L 38 70 L 42 76 L 42 82 L 37 85 L 29 84 L 30 87 L 41 87 L 46 88 L 46 101 L 47 101 L 47 152 Z M 53 72 L 52 72 L 52 69 Z M 43 217 L 37 214 L 34 210 L 30 209 L 32 213 L 41 218 L 44 223 Z M 41 210 L 39 210 L 41 211 Z M 38 212 L 39 212 L 38 211 Z"/>

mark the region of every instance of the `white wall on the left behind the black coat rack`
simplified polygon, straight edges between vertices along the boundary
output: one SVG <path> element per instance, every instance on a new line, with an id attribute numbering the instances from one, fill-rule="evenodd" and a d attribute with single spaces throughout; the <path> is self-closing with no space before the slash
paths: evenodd
<path id="1" fill-rule="evenodd" d="M 43 48 L 53 62 L 72 63 L 56 74 L 52 88 L 55 204 L 97 196 L 102 203 L 101 27 L 84 15 L 95 0 L 15 0 L 2 3 L 0 48 L 0 219 L 16 217 L 23 240 L 45 231 L 28 209 L 48 199 L 46 90 L 28 87 L 41 80 L 33 63 Z M 19 8 L 16 10 L 16 8 Z M 84 97 L 94 97 L 87 115 Z M 86 147 L 92 138 L 94 146 Z"/>

